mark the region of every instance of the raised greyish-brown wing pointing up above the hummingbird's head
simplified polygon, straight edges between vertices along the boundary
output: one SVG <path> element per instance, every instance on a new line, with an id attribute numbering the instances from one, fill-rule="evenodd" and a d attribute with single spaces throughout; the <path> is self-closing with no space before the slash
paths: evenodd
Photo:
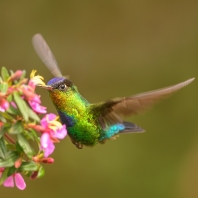
<path id="1" fill-rule="evenodd" d="M 43 61 L 43 63 L 47 66 L 53 76 L 61 77 L 62 74 L 58 67 L 57 61 L 50 50 L 48 44 L 45 42 L 45 39 L 41 34 L 35 34 L 32 38 L 32 44 L 37 55 Z"/>

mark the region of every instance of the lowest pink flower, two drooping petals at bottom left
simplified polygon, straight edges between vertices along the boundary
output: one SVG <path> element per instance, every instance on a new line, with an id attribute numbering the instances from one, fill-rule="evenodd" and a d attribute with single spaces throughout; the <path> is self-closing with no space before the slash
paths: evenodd
<path id="1" fill-rule="evenodd" d="M 0 170 L 0 177 L 2 175 L 3 172 L 3 168 Z M 21 176 L 20 173 L 14 173 L 13 175 L 11 175 L 10 177 L 8 177 L 4 182 L 3 185 L 5 187 L 14 187 L 14 182 L 16 184 L 16 187 L 20 190 L 24 190 L 26 188 L 26 184 L 25 181 L 23 179 L 23 177 Z"/>

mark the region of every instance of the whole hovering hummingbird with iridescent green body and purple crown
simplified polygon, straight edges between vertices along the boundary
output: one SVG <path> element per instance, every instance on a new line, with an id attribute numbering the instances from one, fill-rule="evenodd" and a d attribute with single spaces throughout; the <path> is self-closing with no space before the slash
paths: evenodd
<path id="1" fill-rule="evenodd" d="M 139 113 L 194 80 L 191 78 L 167 88 L 92 104 L 79 93 L 69 78 L 61 74 L 41 34 L 34 35 L 32 42 L 36 53 L 55 77 L 46 86 L 40 87 L 49 91 L 62 124 L 66 124 L 71 141 L 79 149 L 83 145 L 105 143 L 106 140 L 115 139 L 118 134 L 144 132 L 136 124 L 124 121 L 123 117 Z"/>

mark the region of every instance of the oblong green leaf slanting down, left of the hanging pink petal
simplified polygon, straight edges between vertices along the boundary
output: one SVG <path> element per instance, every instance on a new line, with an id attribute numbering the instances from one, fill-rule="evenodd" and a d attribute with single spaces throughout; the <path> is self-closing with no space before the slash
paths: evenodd
<path id="1" fill-rule="evenodd" d="M 17 138 L 18 138 L 18 143 L 22 147 L 25 154 L 29 158 L 31 158 L 34 155 L 34 151 L 33 151 L 32 147 L 30 146 L 29 142 L 26 140 L 26 138 L 24 137 L 23 134 L 18 134 Z"/>

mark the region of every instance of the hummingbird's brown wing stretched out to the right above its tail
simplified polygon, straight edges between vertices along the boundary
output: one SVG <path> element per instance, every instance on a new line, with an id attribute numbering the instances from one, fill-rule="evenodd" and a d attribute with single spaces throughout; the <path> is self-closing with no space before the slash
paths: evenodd
<path id="1" fill-rule="evenodd" d="M 130 97 L 115 98 L 104 103 L 92 104 L 90 109 L 98 118 L 101 126 L 105 128 L 109 124 L 122 123 L 122 116 L 135 115 L 148 107 L 151 107 L 160 99 L 165 98 L 177 90 L 187 86 L 193 80 L 194 78 L 191 78 L 170 87 Z"/>

